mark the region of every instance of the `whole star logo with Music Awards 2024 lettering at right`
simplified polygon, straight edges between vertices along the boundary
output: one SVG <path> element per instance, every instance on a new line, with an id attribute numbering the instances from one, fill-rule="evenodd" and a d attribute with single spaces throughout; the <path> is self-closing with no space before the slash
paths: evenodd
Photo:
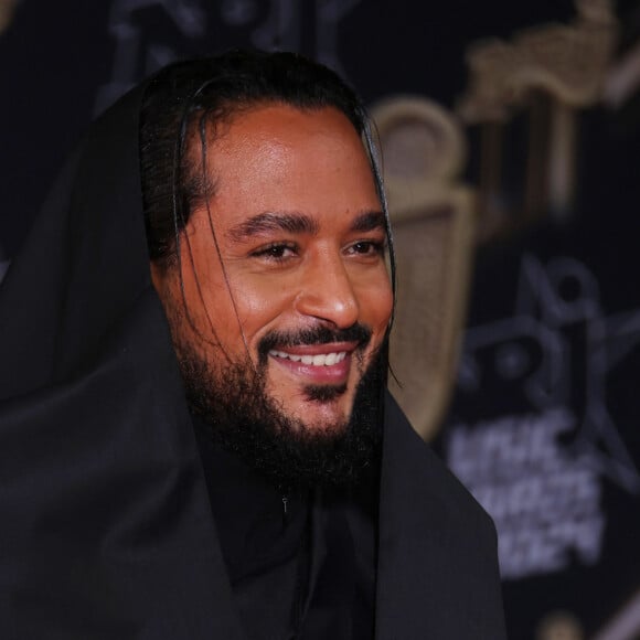
<path id="1" fill-rule="evenodd" d="M 640 494 L 607 405 L 609 374 L 639 344 L 640 310 L 606 316 L 593 274 L 564 257 L 525 256 L 514 314 L 467 332 L 458 388 L 497 415 L 452 425 L 446 452 L 495 520 L 503 577 L 597 562 L 601 479 Z"/>

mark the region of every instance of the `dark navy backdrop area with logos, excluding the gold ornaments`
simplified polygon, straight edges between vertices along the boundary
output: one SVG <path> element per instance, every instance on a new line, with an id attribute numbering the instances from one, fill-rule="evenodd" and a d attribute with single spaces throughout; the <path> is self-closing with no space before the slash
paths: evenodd
<path id="1" fill-rule="evenodd" d="M 638 6 L 616 11 L 623 52 Z M 568 0 L 21 0 L 0 32 L 0 262 L 87 122 L 174 57 L 294 49 L 370 103 L 419 94 L 452 107 L 471 42 L 574 15 Z M 638 114 L 633 97 L 585 110 L 573 217 L 486 244 L 476 260 L 437 446 L 497 521 L 513 640 L 594 638 L 640 594 Z"/>

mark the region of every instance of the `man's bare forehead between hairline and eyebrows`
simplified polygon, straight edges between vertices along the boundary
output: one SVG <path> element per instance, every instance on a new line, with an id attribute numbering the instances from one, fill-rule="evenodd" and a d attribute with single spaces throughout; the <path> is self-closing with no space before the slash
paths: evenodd
<path id="1" fill-rule="evenodd" d="M 323 217 L 378 210 L 364 145 L 338 109 L 266 105 L 243 111 L 207 145 L 210 206 L 220 224 L 259 212 Z"/>

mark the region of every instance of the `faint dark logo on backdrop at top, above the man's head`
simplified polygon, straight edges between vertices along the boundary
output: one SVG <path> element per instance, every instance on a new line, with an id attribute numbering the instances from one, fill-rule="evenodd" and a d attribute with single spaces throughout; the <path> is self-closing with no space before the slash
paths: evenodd
<path id="1" fill-rule="evenodd" d="M 3 0 L 0 0 L 2 2 Z M 6 1 L 6 0 L 4 0 Z M 220 21 L 238 44 L 265 50 L 302 51 L 341 70 L 339 31 L 342 20 L 362 0 L 111 0 L 108 32 L 114 42 L 110 78 L 98 90 L 100 113 L 143 76 L 198 51 L 216 34 Z M 0 4 L 2 7 L 2 4 Z M 303 34 L 312 24 L 313 36 Z M 245 42 L 246 41 L 246 42 Z M 308 43 L 313 51 L 308 51 Z M 212 41 L 206 49 L 217 49 Z"/>

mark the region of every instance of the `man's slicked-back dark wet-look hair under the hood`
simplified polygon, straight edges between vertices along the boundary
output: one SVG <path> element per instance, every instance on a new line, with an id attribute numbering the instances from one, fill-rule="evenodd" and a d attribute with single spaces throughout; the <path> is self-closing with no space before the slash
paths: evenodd
<path id="1" fill-rule="evenodd" d="M 351 121 L 369 153 L 386 218 L 392 277 L 391 226 L 366 110 L 333 71 L 299 54 L 234 50 L 203 60 L 178 62 L 149 81 L 140 114 L 140 172 L 147 243 L 151 260 L 172 264 L 192 210 L 213 194 L 191 152 L 200 138 L 205 152 L 217 128 L 260 105 L 301 110 L 333 107 Z"/>

